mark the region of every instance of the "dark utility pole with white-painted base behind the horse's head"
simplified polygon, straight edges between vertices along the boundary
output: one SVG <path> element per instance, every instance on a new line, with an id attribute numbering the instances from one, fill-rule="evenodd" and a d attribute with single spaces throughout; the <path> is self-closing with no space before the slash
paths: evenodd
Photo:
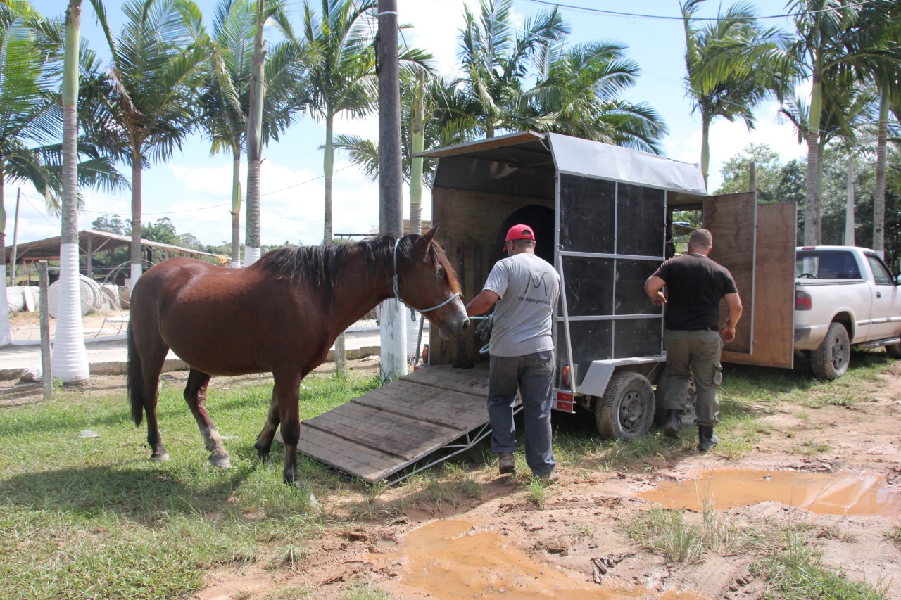
<path id="1" fill-rule="evenodd" d="M 397 0 L 378 0 L 378 217 L 380 233 L 404 234 L 400 150 L 400 69 L 397 59 Z M 406 374 L 404 305 L 381 307 L 382 379 Z"/>

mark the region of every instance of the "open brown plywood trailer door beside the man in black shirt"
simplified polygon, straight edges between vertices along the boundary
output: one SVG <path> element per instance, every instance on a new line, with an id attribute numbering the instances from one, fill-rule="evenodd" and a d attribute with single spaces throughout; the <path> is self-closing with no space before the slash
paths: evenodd
<path id="1" fill-rule="evenodd" d="M 704 201 L 710 258 L 728 268 L 742 297 L 735 340 L 724 362 L 792 368 L 795 336 L 795 205 L 758 205 L 757 194 L 713 195 Z M 728 314 L 720 305 L 720 320 Z"/>

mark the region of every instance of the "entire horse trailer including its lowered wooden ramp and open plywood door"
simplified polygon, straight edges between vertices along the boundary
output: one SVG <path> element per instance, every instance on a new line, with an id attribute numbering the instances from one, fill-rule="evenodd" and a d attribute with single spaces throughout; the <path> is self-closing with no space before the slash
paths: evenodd
<path id="1" fill-rule="evenodd" d="M 791 366 L 793 203 L 708 196 L 696 165 L 554 133 L 514 133 L 423 156 L 438 159 L 435 239 L 466 301 L 503 258 L 505 233 L 516 223 L 534 229 L 536 253 L 560 273 L 556 410 L 592 414 L 607 436 L 650 430 L 666 353 L 662 309 L 643 284 L 675 252 L 678 211 L 702 212 L 714 233 L 710 256 L 732 271 L 742 295 L 744 314 L 724 361 Z M 427 366 L 303 421 L 298 449 L 374 483 L 409 477 L 486 439 L 488 362 L 478 329 L 452 341 L 431 336 Z M 690 422 L 692 399 L 685 405 Z"/>

